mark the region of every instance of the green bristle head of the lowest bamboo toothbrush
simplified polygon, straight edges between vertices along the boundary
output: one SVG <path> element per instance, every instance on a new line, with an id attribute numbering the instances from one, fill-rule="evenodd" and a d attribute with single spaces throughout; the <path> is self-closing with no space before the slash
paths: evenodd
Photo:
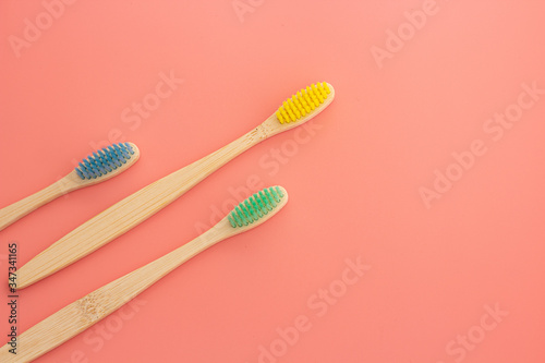
<path id="1" fill-rule="evenodd" d="M 247 226 L 268 215 L 282 198 L 280 187 L 266 187 L 234 207 L 228 215 L 228 220 L 233 228 Z"/>

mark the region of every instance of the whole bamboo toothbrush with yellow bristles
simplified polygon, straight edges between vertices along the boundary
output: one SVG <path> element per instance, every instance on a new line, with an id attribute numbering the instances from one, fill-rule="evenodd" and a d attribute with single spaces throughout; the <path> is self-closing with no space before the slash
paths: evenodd
<path id="1" fill-rule="evenodd" d="M 136 227 L 250 147 L 311 120 L 334 97 L 334 87 L 325 82 L 301 89 L 245 135 L 141 189 L 51 244 L 17 270 L 17 288 L 55 274 Z"/>

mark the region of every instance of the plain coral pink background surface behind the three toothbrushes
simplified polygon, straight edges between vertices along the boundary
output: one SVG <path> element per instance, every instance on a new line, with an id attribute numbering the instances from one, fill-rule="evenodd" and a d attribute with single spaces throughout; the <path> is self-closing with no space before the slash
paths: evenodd
<path id="1" fill-rule="evenodd" d="M 8 243 L 26 263 L 250 131 L 299 88 L 327 81 L 337 98 L 312 134 L 252 148 L 22 290 L 20 331 L 195 238 L 227 211 L 232 190 L 290 193 L 269 222 L 198 255 L 37 362 L 545 361 L 545 95 L 520 96 L 528 109 L 509 129 L 488 121 L 518 110 L 522 84 L 545 88 L 543 1 L 242 0 L 253 5 L 239 16 L 231 0 L 82 0 L 55 8 L 52 24 L 44 3 L 0 2 L 0 206 L 55 182 L 110 136 L 134 142 L 142 157 L 2 231 L 1 276 Z M 423 8 L 433 13 L 425 23 Z M 10 39 L 26 41 L 25 19 L 43 29 L 14 48 Z M 388 43 L 398 31 L 404 40 Z M 155 93 L 161 72 L 183 84 L 136 124 L 130 109 Z M 484 155 L 468 170 L 453 166 L 452 153 L 467 156 L 474 141 Z M 427 208 L 420 191 L 434 189 L 436 169 L 458 180 Z M 350 286 L 347 258 L 367 265 Z M 320 289 L 332 292 L 320 300 Z M 491 315 L 496 307 L 502 315 Z"/>

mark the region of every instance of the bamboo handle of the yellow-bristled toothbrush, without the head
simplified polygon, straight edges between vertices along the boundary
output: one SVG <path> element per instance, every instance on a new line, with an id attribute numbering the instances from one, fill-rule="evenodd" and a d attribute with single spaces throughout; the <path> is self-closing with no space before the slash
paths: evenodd
<path id="1" fill-rule="evenodd" d="M 41 280 L 136 227 L 268 135 L 268 130 L 261 125 L 112 205 L 23 265 L 17 270 L 17 288 Z"/>

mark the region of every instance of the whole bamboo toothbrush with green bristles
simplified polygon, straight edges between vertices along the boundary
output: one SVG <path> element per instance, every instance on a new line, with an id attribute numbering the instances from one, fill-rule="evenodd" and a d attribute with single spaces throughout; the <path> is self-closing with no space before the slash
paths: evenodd
<path id="1" fill-rule="evenodd" d="M 10 344 L 0 349 L 0 362 L 31 362 L 105 318 L 187 259 L 232 235 L 267 221 L 288 202 L 281 186 L 271 186 L 240 203 L 216 226 L 165 256 L 93 291 L 36 324 L 19 338 L 17 354 Z"/>

